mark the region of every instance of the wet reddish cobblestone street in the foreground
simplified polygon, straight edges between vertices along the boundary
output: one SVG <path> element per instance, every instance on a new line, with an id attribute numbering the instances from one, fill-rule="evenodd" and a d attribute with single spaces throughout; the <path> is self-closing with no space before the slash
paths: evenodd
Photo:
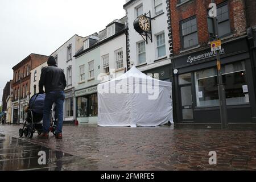
<path id="1" fill-rule="evenodd" d="M 255 129 L 67 125 L 56 140 L 20 138 L 20 127 L 0 125 L 1 170 L 256 170 Z M 209 164 L 209 151 L 217 152 L 217 165 Z"/>

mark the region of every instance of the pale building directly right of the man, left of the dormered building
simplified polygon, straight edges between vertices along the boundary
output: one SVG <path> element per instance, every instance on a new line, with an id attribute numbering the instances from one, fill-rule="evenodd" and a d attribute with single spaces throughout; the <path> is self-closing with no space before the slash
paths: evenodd
<path id="1" fill-rule="evenodd" d="M 75 85 L 76 73 L 75 57 L 73 57 L 79 49 L 83 46 L 85 38 L 74 35 L 51 56 L 55 57 L 57 66 L 64 70 L 67 88 L 65 89 L 65 102 L 64 102 L 64 122 L 72 122 L 75 120 Z"/>

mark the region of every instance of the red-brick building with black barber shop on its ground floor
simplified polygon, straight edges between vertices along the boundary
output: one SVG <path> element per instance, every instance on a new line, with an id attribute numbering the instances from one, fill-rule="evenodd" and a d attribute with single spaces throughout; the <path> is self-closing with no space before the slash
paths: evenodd
<path id="1" fill-rule="evenodd" d="M 216 52 L 210 50 L 210 0 L 170 0 L 174 118 L 178 123 L 219 123 Z M 218 36 L 228 122 L 256 121 L 255 59 L 250 53 L 248 14 L 255 1 L 217 0 Z M 251 4 L 251 5 L 250 5 Z M 253 18 L 254 17 L 254 18 Z"/>

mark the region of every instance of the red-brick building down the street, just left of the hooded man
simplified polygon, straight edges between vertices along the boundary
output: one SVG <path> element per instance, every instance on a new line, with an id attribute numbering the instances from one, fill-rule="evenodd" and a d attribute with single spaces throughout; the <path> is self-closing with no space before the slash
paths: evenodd
<path id="1" fill-rule="evenodd" d="M 30 98 L 30 71 L 46 62 L 48 56 L 31 53 L 25 59 L 13 67 L 12 85 L 12 119 L 13 123 L 22 122 L 23 110 Z M 18 119 L 19 118 L 19 119 Z"/>

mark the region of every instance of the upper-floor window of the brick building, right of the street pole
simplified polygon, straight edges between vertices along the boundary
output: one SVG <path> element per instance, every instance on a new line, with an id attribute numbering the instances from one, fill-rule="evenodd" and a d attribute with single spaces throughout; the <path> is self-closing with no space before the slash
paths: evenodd
<path id="1" fill-rule="evenodd" d="M 218 36 L 223 37 L 230 34 L 228 5 L 217 8 Z"/>

